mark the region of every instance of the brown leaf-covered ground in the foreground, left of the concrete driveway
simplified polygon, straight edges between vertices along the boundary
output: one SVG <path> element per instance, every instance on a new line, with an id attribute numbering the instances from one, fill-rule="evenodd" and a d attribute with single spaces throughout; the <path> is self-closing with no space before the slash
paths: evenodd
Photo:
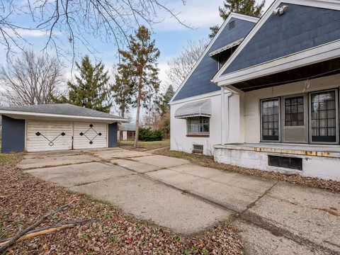
<path id="1" fill-rule="evenodd" d="M 15 167 L 21 157 L 0 154 L 0 239 L 71 201 L 69 209 L 40 227 L 68 220 L 96 222 L 19 242 L 8 254 L 242 254 L 237 229 L 227 222 L 196 237 L 180 237 L 113 205 L 23 173 Z"/>

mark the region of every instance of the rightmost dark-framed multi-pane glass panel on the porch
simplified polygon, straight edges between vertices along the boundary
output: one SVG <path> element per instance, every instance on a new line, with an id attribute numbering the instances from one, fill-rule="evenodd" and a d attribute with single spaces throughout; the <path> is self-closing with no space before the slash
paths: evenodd
<path id="1" fill-rule="evenodd" d="M 325 91 L 311 94 L 312 142 L 336 142 L 336 94 Z"/>

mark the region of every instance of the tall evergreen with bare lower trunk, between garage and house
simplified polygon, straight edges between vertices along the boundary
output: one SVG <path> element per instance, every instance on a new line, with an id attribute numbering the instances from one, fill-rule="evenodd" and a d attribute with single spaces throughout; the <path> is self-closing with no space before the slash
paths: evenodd
<path id="1" fill-rule="evenodd" d="M 120 50 L 122 64 L 132 79 L 133 93 L 136 98 L 136 135 L 135 147 L 138 143 L 138 128 L 140 125 L 140 108 L 147 106 L 150 98 L 154 98 L 159 90 L 159 69 L 157 68 L 157 58 L 159 50 L 155 47 L 155 41 L 151 40 L 150 32 L 145 26 L 140 26 L 136 35 L 130 35 L 130 44 L 127 50 Z"/>

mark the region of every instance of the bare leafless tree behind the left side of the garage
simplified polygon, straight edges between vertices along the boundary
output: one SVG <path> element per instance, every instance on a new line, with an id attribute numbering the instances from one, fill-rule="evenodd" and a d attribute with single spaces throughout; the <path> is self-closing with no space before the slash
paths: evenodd
<path id="1" fill-rule="evenodd" d="M 21 57 L 0 67 L 1 96 L 13 106 L 52 103 L 62 94 L 62 64 L 47 54 L 24 51 Z"/>

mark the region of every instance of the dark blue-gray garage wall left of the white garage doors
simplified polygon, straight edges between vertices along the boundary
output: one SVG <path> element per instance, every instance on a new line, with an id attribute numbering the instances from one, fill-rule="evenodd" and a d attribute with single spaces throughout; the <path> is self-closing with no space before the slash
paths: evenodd
<path id="1" fill-rule="evenodd" d="M 23 152 L 25 149 L 25 120 L 2 115 L 1 153 Z"/>

